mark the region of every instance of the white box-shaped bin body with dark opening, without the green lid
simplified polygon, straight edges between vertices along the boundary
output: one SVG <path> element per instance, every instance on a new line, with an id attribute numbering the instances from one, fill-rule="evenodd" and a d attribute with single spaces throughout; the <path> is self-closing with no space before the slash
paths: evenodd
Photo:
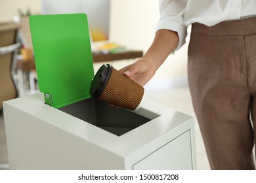
<path id="1" fill-rule="evenodd" d="M 10 169 L 196 169 L 194 120 L 144 99 L 139 110 L 43 93 L 4 103 Z"/>

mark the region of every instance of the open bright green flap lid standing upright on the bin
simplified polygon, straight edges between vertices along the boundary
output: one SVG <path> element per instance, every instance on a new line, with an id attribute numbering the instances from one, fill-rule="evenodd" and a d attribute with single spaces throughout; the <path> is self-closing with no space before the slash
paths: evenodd
<path id="1" fill-rule="evenodd" d="M 60 108 L 90 98 L 94 71 L 86 14 L 30 16 L 30 30 L 45 103 Z"/>

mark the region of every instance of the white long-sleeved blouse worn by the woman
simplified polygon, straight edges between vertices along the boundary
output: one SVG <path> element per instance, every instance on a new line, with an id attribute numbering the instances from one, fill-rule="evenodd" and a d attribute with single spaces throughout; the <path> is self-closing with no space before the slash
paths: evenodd
<path id="1" fill-rule="evenodd" d="M 160 0 L 156 31 L 169 29 L 179 35 L 179 50 L 187 27 L 195 22 L 212 26 L 226 20 L 256 16 L 256 0 Z"/>

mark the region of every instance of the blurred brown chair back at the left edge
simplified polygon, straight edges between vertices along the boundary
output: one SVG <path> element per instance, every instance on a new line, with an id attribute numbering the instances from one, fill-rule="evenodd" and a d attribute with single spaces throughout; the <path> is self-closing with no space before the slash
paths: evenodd
<path id="1" fill-rule="evenodd" d="M 0 23 L 0 110 L 3 101 L 14 99 L 18 93 L 11 75 L 14 55 L 21 44 L 17 41 L 19 25 L 14 22 Z"/>

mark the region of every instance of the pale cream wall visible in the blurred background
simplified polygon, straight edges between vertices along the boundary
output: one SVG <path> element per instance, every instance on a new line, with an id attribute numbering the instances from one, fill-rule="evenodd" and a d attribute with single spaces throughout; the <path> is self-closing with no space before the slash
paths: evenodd
<path id="1" fill-rule="evenodd" d="M 18 8 L 23 11 L 30 8 L 33 14 L 37 14 L 41 10 L 41 2 L 40 0 L 0 0 L 0 22 L 12 20 L 18 15 Z M 111 9 L 110 39 L 127 48 L 146 52 L 154 39 L 159 18 L 158 0 L 112 0 Z M 169 87 L 177 80 L 181 82 L 186 80 L 186 47 L 187 44 L 175 55 L 167 58 L 148 86 L 161 88 L 164 85 L 162 83 L 165 83 L 165 87 Z M 120 69 L 129 63 L 131 61 L 112 64 Z"/>

